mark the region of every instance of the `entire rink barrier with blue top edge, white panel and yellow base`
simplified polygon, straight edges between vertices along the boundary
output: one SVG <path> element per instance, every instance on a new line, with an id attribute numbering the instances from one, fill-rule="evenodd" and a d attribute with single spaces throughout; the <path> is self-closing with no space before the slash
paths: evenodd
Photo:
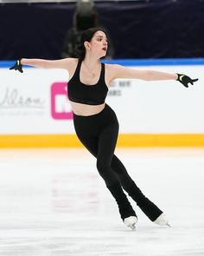
<path id="1" fill-rule="evenodd" d="M 199 78 L 188 89 L 175 81 L 112 82 L 106 102 L 120 124 L 118 146 L 204 146 L 204 60 L 117 60 L 131 69 L 155 69 Z M 0 147 L 79 147 L 62 69 L 10 71 L 0 64 Z"/>

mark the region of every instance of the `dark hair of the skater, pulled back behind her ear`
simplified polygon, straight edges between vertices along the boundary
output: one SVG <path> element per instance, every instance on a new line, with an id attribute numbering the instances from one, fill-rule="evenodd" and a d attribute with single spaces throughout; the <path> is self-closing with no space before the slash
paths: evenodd
<path id="1" fill-rule="evenodd" d="M 104 29 L 101 28 L 91 28 L 88 30 L 85 30 L 81 37 L 80 37 L 80 46 L 78 48 L 78 57 L 80 58 L 81 61 L 83 61 L 83 59 L 86 56 L 86 48 L 84 46 L 84 43 L 87 42 L 91 42 L 92 41 L 92 36 L 97 32 L 97 31 L 103 31 L 106 35 L 106 31 Z"/>

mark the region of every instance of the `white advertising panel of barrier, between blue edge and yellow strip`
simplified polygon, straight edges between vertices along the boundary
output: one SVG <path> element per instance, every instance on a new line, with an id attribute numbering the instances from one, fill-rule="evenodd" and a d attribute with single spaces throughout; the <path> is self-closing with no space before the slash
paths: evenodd
<path id="1" fill-rule="evenodd" d="M 131 66 L 199 78 L 188 89 L 175 81 L 112 82 L 106 102 L 115 110 L 121 134 L 204 133 L 204 65 Z M 62 69 L 0 69 L 0 135 L 74 134 Z"/>

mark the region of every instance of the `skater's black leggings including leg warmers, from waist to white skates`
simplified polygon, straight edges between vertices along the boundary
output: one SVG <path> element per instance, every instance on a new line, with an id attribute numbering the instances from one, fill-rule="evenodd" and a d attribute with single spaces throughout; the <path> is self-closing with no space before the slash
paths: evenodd
<path id="1" fill-rule="evenodd" d="M 73 124 L 82 144 L 97 158 L 99 174 L 117 201 L 121 218 L 124 220 L 129 216 L 136 216 L 123 187 L 143 213 L 150 220 L 156 220 L 163 212 L 143 195 L 114 154 L 118 139 L 118 119 L 112 108 L 105 104 L 105 108 L 96 115 L 73 114 Z"/>

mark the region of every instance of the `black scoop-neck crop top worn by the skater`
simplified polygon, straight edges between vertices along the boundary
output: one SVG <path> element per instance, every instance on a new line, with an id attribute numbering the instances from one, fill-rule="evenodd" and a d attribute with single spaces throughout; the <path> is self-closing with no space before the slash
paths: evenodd
<path id="1" fill-rule="evenodd" d="M 79 60 L 75 73 L 67 84 L 69 100 L 88 105 L 103 104 L 108 92 L 105 84 L 105 64 L 101 63 L 99 81 L 93 85 L 86 85 L 80 82 L 80 66 L 81 61 Z"/>

